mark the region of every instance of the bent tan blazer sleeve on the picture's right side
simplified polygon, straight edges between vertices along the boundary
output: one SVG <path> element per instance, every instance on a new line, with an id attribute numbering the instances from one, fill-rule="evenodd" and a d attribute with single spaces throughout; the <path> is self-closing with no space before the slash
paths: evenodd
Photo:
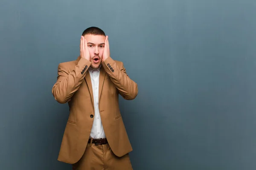
<path id="1" fill-rule="evenodd" d="M 128 77 L 123 62 L 117 65 L 111 57 L 108 57 L 102 62 L 102 66 L 124 99 L 132 100 L 136 98 L 138 94 L 137 83 Z"/>

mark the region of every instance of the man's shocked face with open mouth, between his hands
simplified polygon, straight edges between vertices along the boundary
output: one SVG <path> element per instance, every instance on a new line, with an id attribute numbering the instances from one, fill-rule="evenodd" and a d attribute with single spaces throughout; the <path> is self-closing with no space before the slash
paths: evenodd
<path id="1" fill-rule="evenodd" d="M 90 52 L 91 68 L 99 68 L 102 62 L 103 50 L 105 47 L 104 35 L 86 34 L 84 38 L 87 40 L 87 46 Z"/>

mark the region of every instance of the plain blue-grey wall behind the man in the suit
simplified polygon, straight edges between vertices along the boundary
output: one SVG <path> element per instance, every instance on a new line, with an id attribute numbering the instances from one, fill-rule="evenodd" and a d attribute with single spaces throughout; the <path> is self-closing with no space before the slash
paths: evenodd
<path id="1" fill-rule="evenodd" d="M 138 83 L 120 99 L 134 170 L 255 170 L 255 16 L 255 0 L 1 0 L 0 169 L 70 170 L 51 89 L 98 26 Z"/>

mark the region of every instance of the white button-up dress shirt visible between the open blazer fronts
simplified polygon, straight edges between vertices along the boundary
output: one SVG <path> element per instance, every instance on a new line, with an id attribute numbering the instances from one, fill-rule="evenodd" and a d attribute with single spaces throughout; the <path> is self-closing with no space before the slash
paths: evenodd
<path id="1" fill-rule="evenodd" d="M 93 100 L 94 100 L 94 119 L 93 119 L 93 127 L 91 129 L 90 138 L 98 139 L 105 138 L 105 132 L 102 126 L 101 117 L 99 114 L 99 72 L 100 68 L 88 69 L 90 73 L 90 78 L 93 86 Z"/>

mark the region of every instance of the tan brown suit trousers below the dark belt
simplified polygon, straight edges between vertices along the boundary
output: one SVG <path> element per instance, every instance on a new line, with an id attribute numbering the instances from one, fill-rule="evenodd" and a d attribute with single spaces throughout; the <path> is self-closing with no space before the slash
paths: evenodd
<path id="1" fill-rule="evenodd" d="M 73 164 L 73 170 L 133 170 L 129 154 L 116 156 L 109 144 L 87 144 L 81 159 Z"/>

